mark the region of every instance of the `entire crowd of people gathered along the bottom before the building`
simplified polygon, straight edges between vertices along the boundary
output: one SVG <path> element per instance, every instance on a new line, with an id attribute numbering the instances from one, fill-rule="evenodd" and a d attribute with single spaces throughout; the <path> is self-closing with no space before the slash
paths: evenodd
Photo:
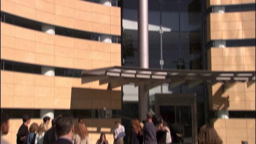
<path id="1" fill-rule="evenodd" d="M 172 131 L 166 122 L 158 119 L 152 120 L 151 112 L 146 114 L 146 121 L 139 122 L 138 119 L 131 121 L 132 128 L 129 135 L 130 144 L 170 144 L 173 142 L 183 143 L 184 129 L 176 125 L 176 131 Z M 30 124 L 31 118 L 23 115 L 23 123 L 17 132 L 17 144 L 90 144 L 89 133 L 82 118 L 79 118 L 75 125 L 74 117 L 70 114 L 61 114 L 52 120 L 52 127 L 48 129 L 50 117 L 43 118 L 43 123 Z M 113 131 L 113 144 L 123 144 L 126 136 L 124 126 L 120 121 L 115 122 L 116 127 Z M 1 114 L 1 144 L 8 144 L 2 135 L 9 131 L 9 118 Z M 222 139 L 218 136 L 215 129 L 206 124 L 200 128 L 198 134 L 199 144 L 222 144 Z M 108 144 L 105 133 L 101 133 L 96 144 Z"/>

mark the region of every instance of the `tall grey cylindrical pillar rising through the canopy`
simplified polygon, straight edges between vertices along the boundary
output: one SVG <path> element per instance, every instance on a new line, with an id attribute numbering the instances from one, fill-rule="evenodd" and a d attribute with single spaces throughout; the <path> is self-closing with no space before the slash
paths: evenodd
<path id="1" fill-rule="evenodd" d="M 149 68 L 148 50 L 148 0 L 138 0 L 138 45 L 140 68 Z M 149 92 L 139 86 L 139 120 L 145 119 L 149 110 Z"/>

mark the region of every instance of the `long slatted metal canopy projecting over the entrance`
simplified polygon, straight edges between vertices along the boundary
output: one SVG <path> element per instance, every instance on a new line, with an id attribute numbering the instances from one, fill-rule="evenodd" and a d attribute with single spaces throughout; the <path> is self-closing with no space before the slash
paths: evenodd
<path id="1" fill-rule="evenodd" d="M 232 85 L 235 82 L 247 82 L 247 87 L 255 82 L 255 71 L 209 71 L 209 70 L 179 70 L 179 69 L 143 69 L 130 66 L 113 66 L 102 69 L 82 71 L 82 84 L 99 80 L 99 84 L 108 83 L 107 89 L 134 82 L 134 86 L 144 85 L 149 90 L 163 83 L 175 87 L 188 83 L 194 87 L 202 82 L 215 84 L 222 82 Z"/>

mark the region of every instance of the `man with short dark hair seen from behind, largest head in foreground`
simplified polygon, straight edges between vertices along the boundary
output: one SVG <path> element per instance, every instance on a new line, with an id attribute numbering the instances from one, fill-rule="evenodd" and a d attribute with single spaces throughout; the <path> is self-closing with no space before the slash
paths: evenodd
<path id="1" fill-rule="evenodd" d="M 72 144 L 75 132 L 74 117 L 70 114 L 60 114 L 55 120 L 55 131 L 59 138 L 54 144 Z"/>

